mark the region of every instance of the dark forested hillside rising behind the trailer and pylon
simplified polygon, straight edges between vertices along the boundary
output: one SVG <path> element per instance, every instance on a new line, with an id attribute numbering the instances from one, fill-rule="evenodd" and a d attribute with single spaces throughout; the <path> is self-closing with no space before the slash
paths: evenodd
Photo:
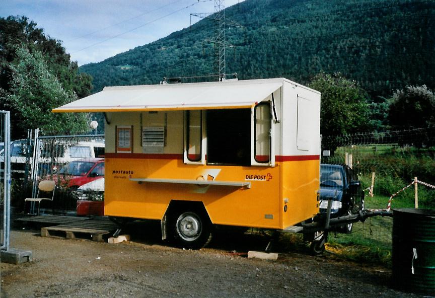
<path id="1" fill-rule="evenodd" d="M 246 0 L 228 8 L 226 17 L 226 72 L 239 79 L 285 77 L 304 84 L 321 70 L 341 72 L 372 98 L 407 85 L 435 87 L 433 0 Z M 94 92 L 211 75 L 212 38 L 213 22 L 203 19 L 80 70 L 94 77 Z"/>

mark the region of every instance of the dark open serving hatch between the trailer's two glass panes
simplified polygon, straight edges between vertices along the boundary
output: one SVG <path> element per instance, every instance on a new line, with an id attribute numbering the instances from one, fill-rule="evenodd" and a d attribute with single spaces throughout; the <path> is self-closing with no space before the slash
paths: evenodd
<path id="1" fill-rule="evenodd" d="M 208 110 L 207 164 L 251 165 L 251 109 Z"/>

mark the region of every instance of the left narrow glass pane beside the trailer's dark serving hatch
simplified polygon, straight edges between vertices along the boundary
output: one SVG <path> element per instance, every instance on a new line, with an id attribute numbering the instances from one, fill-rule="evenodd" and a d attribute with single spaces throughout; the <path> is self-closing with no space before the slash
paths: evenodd
<path id="1" fill-rule="evenodd" d="M 187 159 L 191 162 L 201 160 L 201 141 L 202 141 L 202 112 L 186 112 L 186 150 Z"/>

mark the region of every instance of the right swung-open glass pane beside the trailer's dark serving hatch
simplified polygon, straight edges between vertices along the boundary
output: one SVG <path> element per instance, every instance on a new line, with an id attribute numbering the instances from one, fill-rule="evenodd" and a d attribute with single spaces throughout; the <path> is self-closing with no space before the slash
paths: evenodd
<path id="1" fill-rule="evenodd" d="M 270 103 L 262 102 L 255 107 L 255 147 L 254 158 L 257 163 L 270 162 Z"/>

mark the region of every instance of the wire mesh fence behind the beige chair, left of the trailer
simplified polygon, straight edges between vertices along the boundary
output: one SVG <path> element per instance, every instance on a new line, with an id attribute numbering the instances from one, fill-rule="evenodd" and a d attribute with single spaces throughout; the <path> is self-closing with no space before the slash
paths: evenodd
<path id="1" fill-rule="evenodd" d="M 100 158 L 100 159 L 99 159 Z M 12 206 L 16 212 L 35 213 L 39 182 L 56 183 L 53 201 L 42 201 L 43 212 L 75 212 L 77 189 L 104 178 L 104 135 L 39 136 L 29 132 L 27 139 L 11 143 Z"/>

